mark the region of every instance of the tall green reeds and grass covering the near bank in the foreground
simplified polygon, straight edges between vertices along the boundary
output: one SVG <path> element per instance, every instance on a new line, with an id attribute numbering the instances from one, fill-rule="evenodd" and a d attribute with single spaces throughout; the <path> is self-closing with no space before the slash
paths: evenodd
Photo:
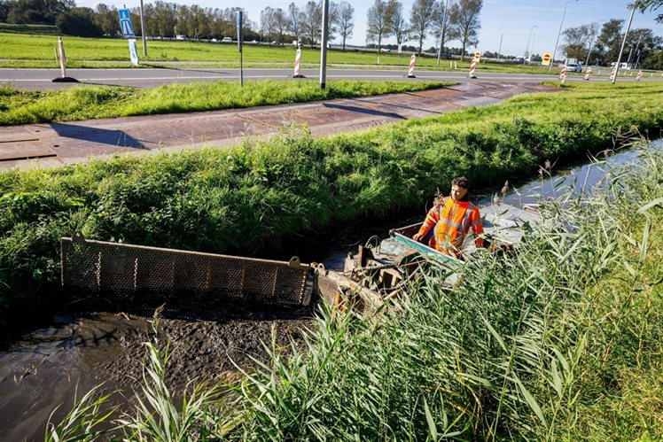
<path id="1" fill-rule="evenodd" d="M 122 440 L 661 440 L 662 176 L 658 148 L 615 169 L 597 195 L 558 188 L 518 254 L 478 254 L 453 289 L 431 268 L 377 321 L 325 313 L 303 350 L 287 355 L 272 343 L 271 360 L 239 379 L 230 403 L 199 385 L 175 405 L 155 341 L 151 403 L 113 415 L 111 432 Z M 49 436 L 93 435 L 103 401 L 91 392 Z"/>

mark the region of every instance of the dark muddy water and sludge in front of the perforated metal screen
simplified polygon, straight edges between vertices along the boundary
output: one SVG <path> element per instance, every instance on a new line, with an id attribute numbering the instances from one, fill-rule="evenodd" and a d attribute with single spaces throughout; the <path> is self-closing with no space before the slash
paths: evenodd
<path id="1" fill-rule="evenodd" d="M 202 310 L 205 312 L 204 310 Z M 140 392 L 145 342 L 169 343 L 166 383 L 179 396 L 191 381 L 217 382 L 264 361 L 272 336 L 277 345 L 298 342 L 311 324 L 307 309 L 265 311 L 228 307 L 201 314 L 166 306 L 154 327 L 153 311 L 61 313 L 53 325 L 22 337 L 0 353 L 0 440 L 43 440 L 51 412 L 59 422 L 74 396 L 103 384 L 119 392 L 110 404 L 129 411 Z M 76 393 L 78 392 L 78 393 Z"/>

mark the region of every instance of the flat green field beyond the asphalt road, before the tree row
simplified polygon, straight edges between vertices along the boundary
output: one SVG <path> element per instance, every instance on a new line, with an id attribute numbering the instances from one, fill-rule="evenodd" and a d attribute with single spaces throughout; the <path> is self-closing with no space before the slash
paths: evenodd
<path id="1" fill-rule="evenodd" d="M 125 40 L 119 38 L 63 38 L 65 42 L 67 67 L 131 67 L 129 64 L 129 48 Z M 53 48 L 58 39 L 53 35 L 22 35 L 2 33 L 0 30 L 0 47 L 3 48 L 0 67 L 51 67 L 59 68 Z M 177 67 L 239 67 L 237 43 L 206 43 L 181 41 L 148 41 L 148 58 L 143 58 L 142 41 L 137 40 L 141 66 L 165 66 L 178 62 Z M 245 44 L 243 58 L 245 67 L 292 67 L 295 48 L 292 45 L 269 47 L 265 45 Z M 356 52 L 332 49 L 327 53 L 327 63 L 333 67 L 378 67 L 402 66 L 407 71 L 411 54 L 387 54 L 376 52 Z M 378 59 L 379 58 L 379 59 Z M 470 59 L 463 62 L 456 59 L 458 70 L 468 70 Z M 191 64 L 187 65 L 186 62 Z M 320 50 L 302 48 L 301 66 L 316 67 L 320 63 Z M 417 69 L 451 70 L 449 60 L 442 59 L 440 66 L 432 57 L 417 58 Z M 173 66 L 175 67 L 175 66 Z M 482 61 L 479 72 L 518 72 L 522 74 L 550 74 L 547 67 L 504 65 Z M 553 68 L 553 73 L 557 69 Z M 604 70 L 605 71 L 605 70 Z M 598 72 L 594 73 L 595 75 Z M 602 72 L 602 74 L 609 74 Z"/>

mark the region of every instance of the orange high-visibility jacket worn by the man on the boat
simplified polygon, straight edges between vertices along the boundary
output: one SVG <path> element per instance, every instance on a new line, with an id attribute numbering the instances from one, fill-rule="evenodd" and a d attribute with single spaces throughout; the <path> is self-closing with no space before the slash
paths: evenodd
<path id="1" fill-rule="evenodd" d="M 454 201 L 446 198 L 441 208 L 441 216 L 438 209 L 433 207 L 425 217 L 424 224 L 419 228 L 419 234 L 426 236 L 434 228 L 433 238 L 428 245 L 448 255 L 460 255 L 463 241 L 472 228 L 474 242 L 477 247 L 483 247 L 483 224 L 479 207 L 469 201 Z"/>

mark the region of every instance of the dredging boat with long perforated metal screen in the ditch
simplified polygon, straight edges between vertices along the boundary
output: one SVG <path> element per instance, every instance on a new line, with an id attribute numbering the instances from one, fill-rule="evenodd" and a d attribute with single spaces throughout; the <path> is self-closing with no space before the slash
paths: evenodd
<path id="1" fill-rule="evenodd" d="M 505 204 L 480 208 L 484 235 L 493 248 L 511 248 L 541 221 L 538 213 Z M 119 244 L 86 239 L 80 232 L 61 239 L 62 285 L 86 296 L 157 297 L 163 302 L 198 301 L 274 306 L 311 306 L 321 299 L 370 314 L 394 296 L 423 266 L 458 269 L 475 252 L 464 245 L 464 259 L 438 252 L 412 239 L 421 223 L 393 229 L 350 252 L 343 271 L 322 264 L 260 260 L 214 253 Z M 469 239 L 469 238 L 468 238 Z"/>

